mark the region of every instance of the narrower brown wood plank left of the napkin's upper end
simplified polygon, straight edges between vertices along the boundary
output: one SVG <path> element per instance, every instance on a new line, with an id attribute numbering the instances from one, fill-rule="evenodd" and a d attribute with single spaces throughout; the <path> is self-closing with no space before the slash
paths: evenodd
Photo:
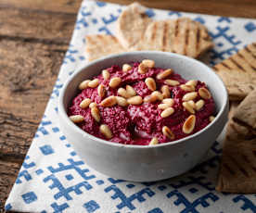
<path id="1" fill-rule="evenodd" d="M 0 39 L 21 37 L 27 42 L 69 44 L 75 19 L 74 14 L 37 12 L 0 5 Z"/>

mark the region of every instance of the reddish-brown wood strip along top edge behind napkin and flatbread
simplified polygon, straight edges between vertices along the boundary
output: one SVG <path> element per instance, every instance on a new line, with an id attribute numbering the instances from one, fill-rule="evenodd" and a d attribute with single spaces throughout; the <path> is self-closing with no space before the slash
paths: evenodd
<path id="1" fill-rule="evenodd" d="M 129 5 L 133 0 L 105 0 L 106 2 Z M 254 0 L 137 0 L 148 7 L 170 9 L 183 12 L 211 14 L 225 17 L 256 18 L 256 1 Z"/>

